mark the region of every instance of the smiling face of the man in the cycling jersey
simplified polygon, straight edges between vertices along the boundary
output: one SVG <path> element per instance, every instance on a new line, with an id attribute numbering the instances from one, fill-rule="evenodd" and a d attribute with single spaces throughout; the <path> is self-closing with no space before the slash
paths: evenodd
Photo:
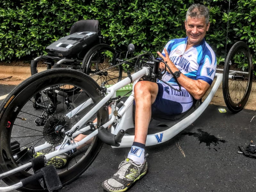
<path id="1" fill-rule="evenodd" d="M 185 21 L 186 34 L 188 36 L 188 44 L 197 45 L 199 44 L 209 30 L 210 23 L 206 25 L 205 18 L 192 18 L 188 16 L 187 22 Z"/>

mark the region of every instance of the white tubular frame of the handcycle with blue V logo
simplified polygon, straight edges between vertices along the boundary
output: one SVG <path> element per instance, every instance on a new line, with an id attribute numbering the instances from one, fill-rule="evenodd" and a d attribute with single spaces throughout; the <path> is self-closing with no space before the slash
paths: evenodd
<path id="1" fill-rule="evenodd" d="M 110 114 L 110 120 L 102 125 L 104 128 L 107 128 L 108 126 L 111 126 L 112 124 L 116 124 L 116 127 L 111 126 L 111 133 L 117 134 L 121 129 L 126 131 L 127 129 L 134 128 L 134 123 L 133 123 L 133 117 L 132 117 L 132 107 L 133 107 L 133 100 L 134 100 L 134 85 L 139 81 L 139 79 L 144 76 L 149 74 L 149 68 L 144 67 L 140 71 L 132 74 L 132 80 L 133 80 L 133 89 L 131 95 L 128 97 L 128 99 L 124 102 L 124 105 L 118 109 L 118 116 L 113 115 L 113 111 Z M 177 124 L 174 124 L 172 127 L 170 127 L 167 130 L 164 130 L 162 132 L 157 132 L 155 134 L 148 134 L 147 135 L 147 141 L 146 141 L 146 146 L 151 146 L 151 145 L 157 145 L 160 143 L 163 143 L 165 141 L 170 140 L 172 137 L 177 135 L 179 132 L 184 130 L 186 127 L 188 127 L 190 124 L 192 124 L 202 113 L 203 111 L 207 108 L 209 103 L 211 102 L 215 92 L 217 91 L 221 81 L 222 81 L 222 73 L 216 73 L 215 74 L 216 81 L 214 85 L 212 86 L 211 91 L 209 92 L 208 96 L 204 100 L 204 102 L 189 116 L 186 118 L 180 120 Z M 120 82 L 112 85 L 111 87 L 107 88 L 107 95 L 100 100 L 99 103 L 97 103 L 82 119 L 77 122 L 68 132 L 74 132 L 77 127 L 82 127 L 92 116 L 92 114 L 95 114 L 109 99 L 116 97 L 116 91 L 125 85 L 131 83 L 131 79 L 129 77 L 126 77 L 125 79 L 121 80 Z M 76 113 L 79 111 L 83 110 L 86 108 L 88 105 L 92 103 L 92 100 L 87 100 L 86 102 L 82 103 L 80 106 L 72 110 L 67 114 L 69 118 L 74 116 Z M 72 115 L 73 114 L 73 115 Z M 121 118 L 120 118 L 121 117 Z M 95 123 L 97 124 L 97 123 Z M 63 140 L 61 147 L 59 150 L 51 152 L 49 154 L 46 154 L 45 157 L 46 159 L 50 159 L 56 155 L 59 155 L 63 152 L 69 151 L 73 148 L 76 148 L 84 143 L 86 143 L 88 140 L 93 138 L 98 134 L 98 129 L 93 131 L 91 134 L 86 136 L 83 140 L 80 140 L 78 142 L 74 142 L 73 138 L 75 138 L 78 134 L 82 132 L 85 132 L 87 130 L 90 130 L 90 127 L 84 127 L 82 129 L 79 129 L 79 132 L 73 133 L 72 137 L 66 136 L 65 139 Z M 128 135 L 125 134 L 124 137 L 122 138 L 122 141 L 120 143 L 120 146 L 118 148 L 124 148 L 124 147 L 131 147 L 132 142 L 134 140 L 134 135 Z M 68 141 L 72 143 L 71 145 L 65 145 Z M 112 146 L 113 148 L 117 148 L 115 146 Z M 36 150 L 36 148 L 35 148 Z"/>

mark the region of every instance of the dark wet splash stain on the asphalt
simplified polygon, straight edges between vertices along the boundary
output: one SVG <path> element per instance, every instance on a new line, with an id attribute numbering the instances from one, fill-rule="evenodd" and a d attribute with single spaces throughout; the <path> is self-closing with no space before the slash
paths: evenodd
<path id="1" fill-rule="evenodd" d="M 209 150 L 211 149 L 211 144 L 213 144 L 214 146 L 217 146 L 217 144 L 219 144 L 219 142 L 222 142 L 222 143 L 226 143 L 227 141 L 225 140 L 221 140 L 217 137 L 215 137 L 214 135 L 211 135 L 207 132 L 204 132 L 203 129 L 197 129 L 197 131 L 199 133 L 192 133 L 192 132 L 187 132 L 187 133 L 183 133 L 182 135 L 193 135 L 194 137 L 196 137 L 200 143 L 205 143 L 206 146 L 208 146 Z M 213 148 L 217 151 L 216 148 Z"/>

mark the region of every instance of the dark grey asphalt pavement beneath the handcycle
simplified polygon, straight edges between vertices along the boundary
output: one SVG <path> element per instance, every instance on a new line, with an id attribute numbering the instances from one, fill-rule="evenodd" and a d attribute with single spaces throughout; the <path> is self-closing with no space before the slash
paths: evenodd
<path id="1" fill-rule="evenodd" d="M 0 85 L 0 96 L 14 86 Z M 2 100 L 0 100 L 2 102 Z M 220 113 L 225 108 L 227 113 Z M 255 110 L 237 114 L 209 105 L 188 128 L 171 140 L 146 147 L 148 172 L 129 192 L 256 191 L 256 159 L 237 153 L 256 143 Z M 92 165 L 60 192 L 102 192 L 101 182 L 116 172 L 129 148 L 103 145 Z M 183 151 L 183 153 L 182 153 Z M 3 182 L 0 182 L 3 186 Z"/>

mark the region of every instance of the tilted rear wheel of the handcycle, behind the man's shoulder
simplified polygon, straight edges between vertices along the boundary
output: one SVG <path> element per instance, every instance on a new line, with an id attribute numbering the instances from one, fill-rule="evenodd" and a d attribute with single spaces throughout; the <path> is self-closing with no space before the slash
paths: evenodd
<path id="1" fill-rule="evenodd" d="M 248 45 L 242 41 L 236 42 L 228 52 L 222 79 L 223 97 L 233 113 L 241 111 L 249 98 L 252 70 L 252 56 Z"/>

